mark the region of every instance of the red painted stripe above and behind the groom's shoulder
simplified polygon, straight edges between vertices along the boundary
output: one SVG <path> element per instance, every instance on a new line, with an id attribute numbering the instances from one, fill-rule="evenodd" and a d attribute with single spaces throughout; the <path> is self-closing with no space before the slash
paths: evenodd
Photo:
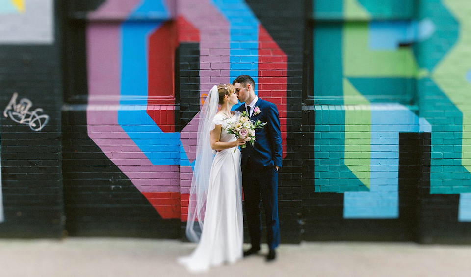
<path id="1" fill-rule="evenodd" d="M 276 105 L 280 115 L 283 158 L 286 157 L 286 83 L 287 56 L 270 34 L 259 25 L 258 95 Z"/>

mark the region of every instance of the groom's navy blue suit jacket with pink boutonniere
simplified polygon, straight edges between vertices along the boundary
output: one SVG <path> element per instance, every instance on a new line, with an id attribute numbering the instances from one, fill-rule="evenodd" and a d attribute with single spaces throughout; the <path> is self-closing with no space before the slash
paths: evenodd
<path id="1" fill-rule="evenodd" d="M 278 109 L 275 104 L 259 98 L 255 103 L 255 107 L 259 107 L 260 113 L 252 113 L 250 119 L 262 123 L 266 122 L 263 129 L 255 130 L 254 146 L 247 143 L 247 147 L 241 148 L 242 153 L 242 168 L 246 166 L 247 161 L 250 159 L 252 163 L 260 166 L 279 166 L 281 167 L 282 160 L 282 146 L 281 146 L 281 131 L 280 131 L 280 118 Z M 255 107 L 251 107 L 254 109 Z M 235 111 L 245 111 L 245 104 L 240 105 Z"/>

